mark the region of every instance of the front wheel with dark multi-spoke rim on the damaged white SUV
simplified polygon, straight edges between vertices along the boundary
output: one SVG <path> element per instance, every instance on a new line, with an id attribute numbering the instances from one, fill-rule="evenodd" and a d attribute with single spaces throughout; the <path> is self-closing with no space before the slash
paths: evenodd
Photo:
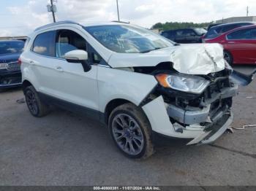
<path id="1" fill-rule="evenodd" d="M 154 153 L 151 125 L 143 110 L 134 104 L 116 107 L 108 126 L 116 146 L 127 157 L 145 159 Z"/>

